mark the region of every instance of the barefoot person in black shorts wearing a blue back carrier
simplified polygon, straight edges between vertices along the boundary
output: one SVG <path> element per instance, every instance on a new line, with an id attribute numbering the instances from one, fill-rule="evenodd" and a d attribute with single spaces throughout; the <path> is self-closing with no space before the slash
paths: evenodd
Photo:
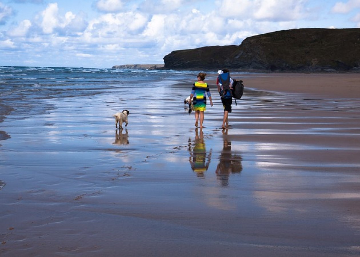
<path id="1" fill-rule="evenodd" d="M 222 128 L 229 127 L 228 116 L 231 112 L 231 104 L 233 103 L 231 89 L 233 89 L 234 80 L 230 77 L 228 69 L 219 70 L 217 77 L 217 91 L 221 96 L 221 103 L 224 106 L 224 118 L 222 120 Z"/>

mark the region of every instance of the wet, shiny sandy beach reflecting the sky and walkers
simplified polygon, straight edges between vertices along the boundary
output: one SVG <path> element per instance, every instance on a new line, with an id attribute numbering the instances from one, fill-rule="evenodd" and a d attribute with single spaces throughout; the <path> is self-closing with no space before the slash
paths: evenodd
<path id="1" fill-rule="evenodd" d="M 214 78 L 202 130 L 180 82 L 7 115 L 0 255 L 359 256 L 360 75 L 242 75 L 228 130 Z"/>

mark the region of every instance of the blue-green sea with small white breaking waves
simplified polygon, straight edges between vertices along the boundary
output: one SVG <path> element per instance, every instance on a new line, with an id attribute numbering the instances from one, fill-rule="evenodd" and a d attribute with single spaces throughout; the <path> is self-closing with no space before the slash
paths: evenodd
<path id="1" fill-rule="evenodd" d="M 49 99 L 65 99 L 147 88 L 196 78 L 196 72 L 68 67 L 0 67 L 0 116 L 44 113 Z M 141 90 L 139 90 L 141 89 Z M 121 96 L 119 96 L 121 98 Z"/>

